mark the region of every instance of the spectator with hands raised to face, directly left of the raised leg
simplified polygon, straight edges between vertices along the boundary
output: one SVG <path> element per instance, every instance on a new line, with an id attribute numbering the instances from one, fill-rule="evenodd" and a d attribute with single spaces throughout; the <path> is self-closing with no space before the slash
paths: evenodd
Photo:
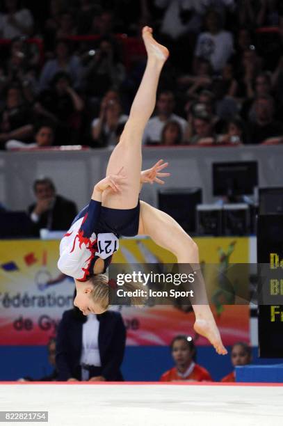
<path id="1" fill-rule="evenodd" d="M 119 125 L 124 125 L 128 120 L 128 116 L 122 113 L 120 100 L 111 93 L 116 94 L 113 90 L 106 93 L 101 103 L 99 117 L 92 121 L 92 139 L 97 147 L 116 145 L 115 131 Z"/>

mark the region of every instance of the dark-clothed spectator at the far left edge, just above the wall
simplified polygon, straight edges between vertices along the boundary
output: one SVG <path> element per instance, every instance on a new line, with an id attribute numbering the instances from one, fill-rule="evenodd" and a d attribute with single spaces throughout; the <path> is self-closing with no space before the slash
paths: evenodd
<path id="1" fill-rule="evenodd" d="M 0 116 L 0 144 L 10 139 L 26 140 L 33 133 L 33 111 L 24 101 L 22 89 L 9 86 L 6 91 L 6 104 Z"/>

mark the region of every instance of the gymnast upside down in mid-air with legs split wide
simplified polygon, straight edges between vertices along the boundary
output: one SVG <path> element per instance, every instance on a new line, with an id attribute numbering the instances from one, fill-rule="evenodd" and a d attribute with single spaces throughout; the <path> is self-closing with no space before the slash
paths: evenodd
<path id="1" fill-rule="evenodd" d="M 197 244 L 165 212 L 139 200 L 140 184 L 163 184 L 170 173 L 162 170 L 168 163 L 159 160 L 141 171 L 142 136 L 156 101 L 161 69 L 169 56 L 168 49 L 152 37 L 152 29 L 143 28 L 147 65 L 131 106 L 129 120 L 108 161 L 106 178 L 95 184 L 92 197 L 74 219 L 60 242 L 58 268 L 72 276 L 76 284 L 74 305 L 83 314 L 103 313 L 108 308 L 108 277 L 105 272 L 120 236 L 148 235 L 156 244 L 171 251 L 178 265 L 193 265 L 198 275 L 202 301 L 192 303 L 194 329 L 207 338 L 218 354 L 227 354 L 206 297 L 201 276 Z"/>

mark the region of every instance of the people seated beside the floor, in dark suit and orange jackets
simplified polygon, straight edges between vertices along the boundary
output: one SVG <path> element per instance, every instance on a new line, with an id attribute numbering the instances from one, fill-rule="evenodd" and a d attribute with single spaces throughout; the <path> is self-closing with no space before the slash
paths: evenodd
<path id="1" fill-rule="evenodd" d="M 107 339 L 105 338 L 107 336 Z M 127 330 L 120 313 L 83 315 L 74 307 L 63 313 L 56 338 L 47 343 L 51 372 L 40 379 L 18 381 L 124 381 L 121 373 Z M 170 343 L 174 367 L 163 372 L 162 382 L 213 381 L 209 371 L 197 363 L 197 347 L 191 336 L 177 335 Z M 236 342 L 231 347 L 232 371 L 220 381 L 236 381 L 237 366 L 252 362 L 252 347 Z M 147 377 L 143 378 L 145 381 Z"/>

